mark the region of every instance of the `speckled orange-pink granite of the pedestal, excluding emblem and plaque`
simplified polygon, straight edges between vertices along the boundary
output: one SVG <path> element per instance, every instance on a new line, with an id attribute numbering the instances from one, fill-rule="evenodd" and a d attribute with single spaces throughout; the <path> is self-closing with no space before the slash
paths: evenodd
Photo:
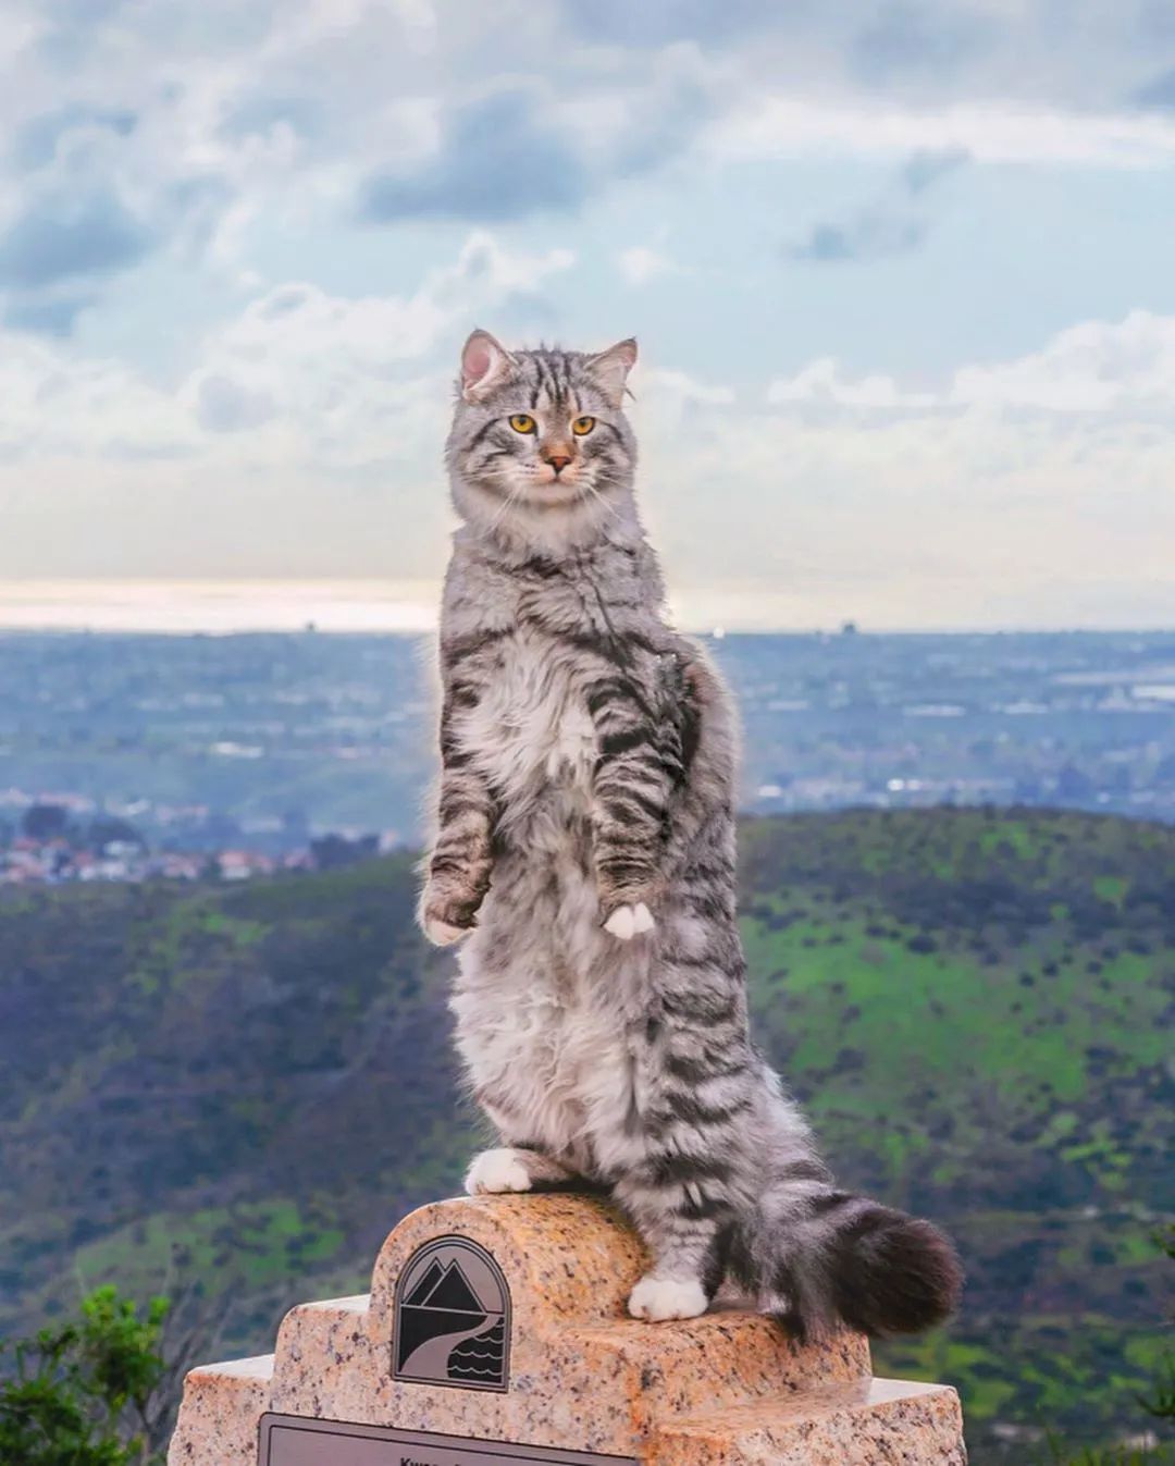
<path id="1" fill-rule="evenodd" d="M 505 1393 L 393 1380 L 396 1281 L 418 1248 L 442 1236 L 479 1243 L 505 1275 Z M 873 1380 L 856 1334 L 800 1346 L 741 1311 L 636 1322 L 624 1303 L 642 1268 L 631 1229 L 585 1196 L 423 1207 L 384 1243 L 371 1294 L 294 1308 L 274 1356 L 188 1377 L 168 1463 L 252 1466 L 264 1410 L 665 1466 L 965 1460 L 952 1390 Z"/>

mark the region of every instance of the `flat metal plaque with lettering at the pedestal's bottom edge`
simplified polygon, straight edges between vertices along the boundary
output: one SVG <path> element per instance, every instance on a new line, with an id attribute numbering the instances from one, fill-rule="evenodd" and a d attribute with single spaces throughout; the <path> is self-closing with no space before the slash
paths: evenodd
<path id="1" fill-rule="evenodd" d="M 549 1445 L 472 1441 L 385 1425 L 262 1415 L 258 1466 L 637 1466 L 631 1456 L 593 1456 Z"/>

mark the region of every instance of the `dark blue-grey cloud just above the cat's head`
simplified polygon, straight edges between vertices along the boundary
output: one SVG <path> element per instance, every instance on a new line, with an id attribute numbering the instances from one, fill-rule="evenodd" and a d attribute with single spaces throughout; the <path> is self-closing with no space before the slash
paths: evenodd
<path id="1" fill-rule="evenodd" d="M 409 173 L 368 177 L 359 210 L 369 223 L 498 221 L 574 208 L 589 186 L 579 154 L 552 129 L 535 94 L 501 91 L 453 113 L 435 158 Z"/>

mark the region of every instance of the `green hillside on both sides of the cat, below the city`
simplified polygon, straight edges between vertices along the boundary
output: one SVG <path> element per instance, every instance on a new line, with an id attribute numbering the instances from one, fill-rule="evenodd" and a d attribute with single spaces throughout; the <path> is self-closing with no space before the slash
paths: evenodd
<path id="1" fill-rule="evenodd" d="M 879 1350 L 1014 1428 L 1140 1428 L 1172 1207 L 1175 830 L 989 811 L 743 828 L 757 1035 L 841 1176 L 946 1223 L 961 1318 Z M 217 1352 L 363 1286 L 475 1143 L 412 862 L 0 899 L 0 1333 L 117 1278 Z M 1002 1459 L 1002 1457 L 1001 1457 Z M 1026 1456 L 1024 1459 L 1031 1459 Z"/>

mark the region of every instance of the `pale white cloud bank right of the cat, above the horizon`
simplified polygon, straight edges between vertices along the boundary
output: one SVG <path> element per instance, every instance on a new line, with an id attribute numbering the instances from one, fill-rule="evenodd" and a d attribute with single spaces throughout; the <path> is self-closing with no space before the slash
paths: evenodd
<path id="1" fill-rule="evenodd" d="M 648 512 L 678 589 L 797 626 L 1175 617 L 1175 317 L 1083 323 L 933 390 L 825 359 L 766 410 L 649 424 L 652 397 Z"/>

